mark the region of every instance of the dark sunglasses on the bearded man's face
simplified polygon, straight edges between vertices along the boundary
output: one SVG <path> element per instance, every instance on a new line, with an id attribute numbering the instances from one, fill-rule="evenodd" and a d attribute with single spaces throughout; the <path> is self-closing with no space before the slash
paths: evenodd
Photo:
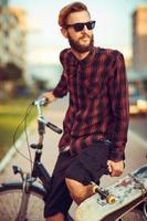
<path id="1" fill-rule="evenodd" d="M 85 22 L 85 23 L 66 24 L 66 28 L 72 27 L 77 32 L 77 31 L 82 31 L 85 25 L 88 30 L 92 30 L 95 27 L 95 21 L 88 21 L 88 22 Z"/>

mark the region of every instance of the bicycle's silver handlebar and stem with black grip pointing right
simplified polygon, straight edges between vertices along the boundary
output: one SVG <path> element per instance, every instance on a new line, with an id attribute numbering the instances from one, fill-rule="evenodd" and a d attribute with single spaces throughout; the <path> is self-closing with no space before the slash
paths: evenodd
<path id="1" fill-rule="evenodd" d="M 38 120 L 39 123 L 44 124 L 46 127 L 49 127 L 50 129 L 52 129 L 53 131 L 57 133 L 57 134 L 62 134 L 62 129 L 59 128 L 57 126 L 53 125 L 52 123 L 45 120 L 45 118 L 42 115 L 42 106 L 46 106 L 48 105 L 48 99 L 45 97 L 41 97 L 35 99 L 32 105 L 38 107 Z M 40 131 L 39 131 L 40 133 Z M 44 134 L 44 131 L 41 131 Z"/>

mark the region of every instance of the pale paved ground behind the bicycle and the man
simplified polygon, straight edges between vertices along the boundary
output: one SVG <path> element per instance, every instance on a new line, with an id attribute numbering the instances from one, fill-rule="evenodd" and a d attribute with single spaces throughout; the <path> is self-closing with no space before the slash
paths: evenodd
<path id="1" fill-rule="evenodd" d="M 56 126 L 62 128 L 62 119 L 65 114 L 66 108 L 66 102 L 57 101 L 54 104 L 46 107 L 46 110 L 44 115 L 46 116 L 46 119 L 49 122 L 55 124 Z M 38 134 L 35 131 L 36 125 L 31 125 L 31 134 L 29 135 L 29 143 L 38 143 Z M 57 156 L 57 143 L 61 135 L 55 134 L 54 131 L 46 128 L 46 133 L 44 136 L 44 149 L 42 155 L 42 162 L 46 167 L 46 169 L 50 171 L 50 173 L 53 170 L 56 156 Z M 20 151 L 28 156 L 28 149 L 27 144 L 23 143 L 22 147 L 20 148 Z M 126 176 L 129 171 L 137 169 L 144 164 L 147 164 L 146 159 L 147 155 L 147 145 L 144 143 L 141 144 L 140 139 L 134 135 L 134 133 L 128 133 L 128 143 L 126 147 L 126 168 L 124 171 L 124 176 Z M 7 166 L 7 168 L 3 170 L 3 172 L 0 173 L 0 181 L 12 181 L 12 180 L 20 180 L 19 176 L 14 176 L 12 172 L 12 165 L 18 165 L 22 167 L 25 171 L 30 170 L 30 162 L 24 159 L 22 156 L 17 154 L 10 161 L 10 164 Z M 111 177 L 103 177 L 102 178 L 102 187 L 106 187 L 111 183 L 113 183 L 118 178 L 111 178 Z"/>

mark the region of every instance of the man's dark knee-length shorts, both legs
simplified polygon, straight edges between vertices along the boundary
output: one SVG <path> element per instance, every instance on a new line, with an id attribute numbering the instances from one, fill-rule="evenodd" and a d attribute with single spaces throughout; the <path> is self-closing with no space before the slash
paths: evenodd
<path id="1" fill-rule="evenodd" d="M 99 178 L 107 173 L 109 147 L 104 141 L 94 143 L 77 156 L 72 157 L 70 151 L 59 155 L 51 179 L 51 188 L 44 207 L 44 217 L 52 217 L 59 212 L 66 215 L 72 198 L 65 185 L 65 178 L 74 179 L 83 185 L 91 181 L 99 183 Z"/>

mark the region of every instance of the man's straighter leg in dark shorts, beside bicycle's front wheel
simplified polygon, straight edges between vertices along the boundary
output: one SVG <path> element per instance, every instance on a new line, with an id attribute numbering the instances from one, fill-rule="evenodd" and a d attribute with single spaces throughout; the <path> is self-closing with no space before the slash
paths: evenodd
<path id="1" fill-rule="evenodd" d="M 60 154 L 45 199 L 44 218 L 46 221 L 65 221 L 73 201 L 65 183 L 65 171 L 70 164 L 70 152 Z"/>

